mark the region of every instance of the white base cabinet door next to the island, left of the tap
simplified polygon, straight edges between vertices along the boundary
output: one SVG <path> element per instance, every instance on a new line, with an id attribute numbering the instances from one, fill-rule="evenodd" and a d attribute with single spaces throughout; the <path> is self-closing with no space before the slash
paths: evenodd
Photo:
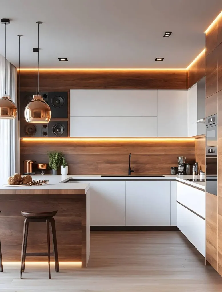
<path id="1" fill-rule="evenodd" d="M 90 183 L 90 225 L 125 226 L 125 181 Z"/>

